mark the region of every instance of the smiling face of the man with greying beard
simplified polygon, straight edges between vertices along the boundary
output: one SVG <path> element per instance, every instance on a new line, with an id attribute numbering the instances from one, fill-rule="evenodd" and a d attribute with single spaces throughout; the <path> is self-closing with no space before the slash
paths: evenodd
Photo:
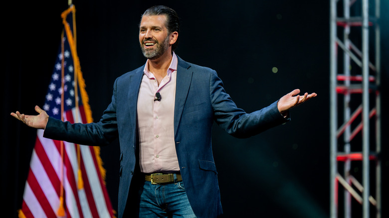
<path id="1" fill-rule="evenodd" d="M 143 55 L 151 60 L 171 51 L 170 37 L 166 27 L 166 15 L 144 15 L 139 29 L 139 42 Z"/>

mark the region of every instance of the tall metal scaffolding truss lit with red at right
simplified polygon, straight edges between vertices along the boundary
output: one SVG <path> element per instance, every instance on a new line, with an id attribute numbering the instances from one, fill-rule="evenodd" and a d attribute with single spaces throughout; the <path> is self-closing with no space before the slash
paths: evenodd
<path id="1" fill-rule="evenodd" d="M 381 218 L 380 0 L 330 1 L 330 217 Z"/>

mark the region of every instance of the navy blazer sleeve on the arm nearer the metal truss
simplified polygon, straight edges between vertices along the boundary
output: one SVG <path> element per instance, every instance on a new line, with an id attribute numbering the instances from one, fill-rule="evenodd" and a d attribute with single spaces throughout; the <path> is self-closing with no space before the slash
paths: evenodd
<path id="1" fill-rule="evenodd" d="M 290 120 L 289 116 L 285 118 L 278 111 L 278 101 L 266 108 L 246 113 L 236 107 L 215 71 L 212 71 L 209 81 L 214 120 L 234 137 L 247 138 Z"/>

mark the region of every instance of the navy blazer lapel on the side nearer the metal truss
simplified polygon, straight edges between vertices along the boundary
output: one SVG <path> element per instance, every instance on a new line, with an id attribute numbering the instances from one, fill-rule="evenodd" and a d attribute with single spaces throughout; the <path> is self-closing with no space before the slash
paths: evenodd
<path id="1" fill-rule="evenodd" d="M 174 135 L 180 123 L 181 115 L 187 100 L 189 87 L 191 86 L 193 71 L 189 70 L 191 65 L 178 57 L 177 64 L 177 83 L 176 83 L 176 102 L 174 107 Z"/>

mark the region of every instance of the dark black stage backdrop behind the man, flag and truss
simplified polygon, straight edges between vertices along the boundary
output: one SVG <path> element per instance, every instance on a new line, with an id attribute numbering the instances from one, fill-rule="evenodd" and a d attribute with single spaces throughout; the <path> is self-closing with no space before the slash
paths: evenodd
<path id="1" fill-rule="evenodd" d="M 34 106 L 44 103 L 63 28 L 60 14 L 68 7 L 62 1 L 3 4 L 0 188 L 5 201 L 1 213 L 9 214 L 5 217 L 14 217 L 21 206 L 36 137 L 34 129 L 9 113 L 34 114 Z M 114 80 L 146 62 L 138 41 L 143 11 L 155 4 L 171 6 L 182 27 L 176 53 L 216 70 L 225 90 L 246 112 L 266 107 L 296 88 L 318 94 L 292 109 L 291 122 L 248 139 L 233 138 L 214 126 L 212 143 L 223 217 L 329 217 L 329 1 L 167 2 L 73 1 L 77 51 L 94 120 L 100 119 L 110 103 Z M 388 1 L 383 0 L 383 217 L 389 216 L 385 207 L 389 203 L 388 9 Z M 109 196 L 117 210 L 118 141 L 102 147 L 101 157 Z M 353 208 L 353 217 L 360 217 L 361 207 Z"/>

